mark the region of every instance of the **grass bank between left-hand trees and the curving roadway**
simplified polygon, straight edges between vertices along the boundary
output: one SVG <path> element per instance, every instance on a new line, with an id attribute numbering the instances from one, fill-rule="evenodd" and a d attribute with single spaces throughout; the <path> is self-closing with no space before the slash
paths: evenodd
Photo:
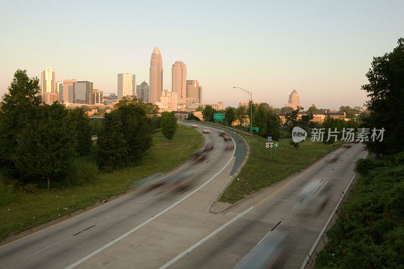
<path id="1" fill-rule="evenodd" d="M 178 127 L 173 140 L 159 129 L 138 166 L 99 173 L 80 186 L 22 191 L 0 181 L 0 240 L 124 193 L 135 181 L 184 163 L 203 143 L 203 135 L 194 128 Z"/>

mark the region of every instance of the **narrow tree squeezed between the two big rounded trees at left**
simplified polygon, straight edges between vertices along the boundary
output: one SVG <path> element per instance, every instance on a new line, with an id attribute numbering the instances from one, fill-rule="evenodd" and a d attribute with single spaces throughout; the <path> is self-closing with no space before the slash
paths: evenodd
<path id="1" fill-rule="evenodd" d="M 69 110 L 69 117 L 76 131 L 76 151 L 80 156 L 88 154 L 92 146 L 89 117 L 82 107 Z"/>

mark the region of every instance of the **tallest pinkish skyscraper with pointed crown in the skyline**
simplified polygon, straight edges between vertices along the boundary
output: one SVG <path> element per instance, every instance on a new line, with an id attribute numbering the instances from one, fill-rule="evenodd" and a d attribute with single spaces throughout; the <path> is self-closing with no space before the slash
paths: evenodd
<path id="1" fill-rule="evenodd" d="M 163 90 L 163 59 L 158 46 L 151 53 L 150 59 L 150 97 L 152 103 L 159 102 Z"/>

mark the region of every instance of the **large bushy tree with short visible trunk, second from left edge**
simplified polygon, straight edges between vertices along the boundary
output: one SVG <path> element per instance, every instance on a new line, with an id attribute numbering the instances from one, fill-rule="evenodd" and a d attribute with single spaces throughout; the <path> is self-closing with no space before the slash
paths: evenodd
<path id="1" fill-rule="evenodd" d="M 75 127 L 68 110 L 58 102 L 35 107 L 35 117 L 27 122 L 16 139 L 15 165 L 26 183 L 58 181 L 76 156 Z"/>

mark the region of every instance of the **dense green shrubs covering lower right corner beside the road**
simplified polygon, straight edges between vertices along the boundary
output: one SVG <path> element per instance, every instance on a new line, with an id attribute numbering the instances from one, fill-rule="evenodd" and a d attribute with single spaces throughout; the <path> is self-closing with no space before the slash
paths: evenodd
<path id="1" fill-rule="evenodd" d="M 404 264 L 404 152 L 359 159 L 361 175 L 341 205 L 317 268 L 401 268 Z"/>

